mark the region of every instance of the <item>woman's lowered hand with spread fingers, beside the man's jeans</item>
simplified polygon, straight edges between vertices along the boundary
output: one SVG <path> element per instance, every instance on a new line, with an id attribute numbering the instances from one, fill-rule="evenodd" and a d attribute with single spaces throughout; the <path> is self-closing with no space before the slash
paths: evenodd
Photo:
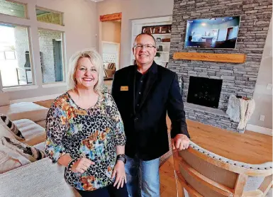
<path id="1" fill-rule="evenodd" d="M 121 186 L 121 188 L 123 188 L 124 181 L 125 181 L 125 183 L 127 182 L 123 161 L 118 160 L 116 162 L 116 165 L 113 168 L 113 174 L 112 174 L 111 179 L 113 179 L 114 177 L 116 177 L 116 181 L 113 184 L 113 186 L 117 185 L 117 188 L 119 188 L 120 186 Z"/>

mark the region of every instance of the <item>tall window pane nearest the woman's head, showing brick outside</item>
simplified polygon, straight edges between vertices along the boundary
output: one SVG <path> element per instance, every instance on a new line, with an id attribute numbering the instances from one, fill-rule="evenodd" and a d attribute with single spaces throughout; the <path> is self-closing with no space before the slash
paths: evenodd
<path id="1" fill-rule="evenodd" d="M 62 32 L 38 29 L 43 83 L 64 81 Z"/>

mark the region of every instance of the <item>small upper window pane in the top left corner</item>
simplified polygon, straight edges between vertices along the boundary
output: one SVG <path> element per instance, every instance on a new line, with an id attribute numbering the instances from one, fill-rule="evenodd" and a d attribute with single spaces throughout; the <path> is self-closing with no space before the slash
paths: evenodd
<path id="1" fill-rule="evenodd" d="M 0 0 L 0 13 L 26 18 L 26 4 Z"/>

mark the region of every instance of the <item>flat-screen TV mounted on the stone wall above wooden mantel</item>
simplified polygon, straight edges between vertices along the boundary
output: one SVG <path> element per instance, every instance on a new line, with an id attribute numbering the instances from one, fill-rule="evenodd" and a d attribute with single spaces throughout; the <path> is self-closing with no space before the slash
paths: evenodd
<path id="1" fill-rule="evenodd" d="M 235 49 L 240 16 L 186 21 L 186 49 Z"/>

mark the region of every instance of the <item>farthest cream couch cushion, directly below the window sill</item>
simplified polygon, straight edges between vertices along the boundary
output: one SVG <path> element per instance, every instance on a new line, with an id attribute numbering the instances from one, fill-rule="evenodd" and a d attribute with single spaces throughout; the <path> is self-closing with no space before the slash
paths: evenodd
<path id="1" fill-rule="evenodd" d="M 29 119 L 34 122 L 45 120 L 48 108 L 31 102 L 13 103 L 9 106 L 1 106 L 0 113 L 6 114 L 11 120 Z"/>

